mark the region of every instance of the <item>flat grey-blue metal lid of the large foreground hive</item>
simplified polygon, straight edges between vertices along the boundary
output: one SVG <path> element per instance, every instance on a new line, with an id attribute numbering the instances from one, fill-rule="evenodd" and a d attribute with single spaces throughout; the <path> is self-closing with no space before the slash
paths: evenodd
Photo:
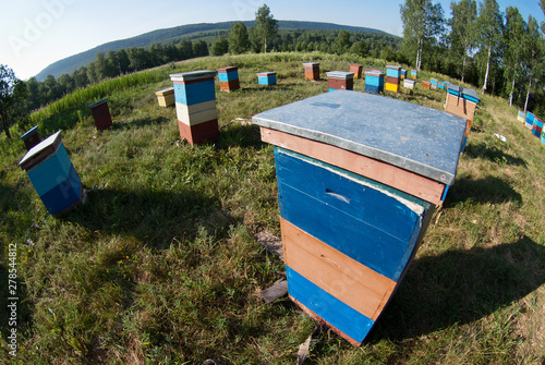
<path id="1" fill-rule="evenodd" d="M 444 184 L 455 180 L 465 132 L 463 118 L 352 90 L 336 90 L 295 101 L 256 114 L 252 121 Z"/>

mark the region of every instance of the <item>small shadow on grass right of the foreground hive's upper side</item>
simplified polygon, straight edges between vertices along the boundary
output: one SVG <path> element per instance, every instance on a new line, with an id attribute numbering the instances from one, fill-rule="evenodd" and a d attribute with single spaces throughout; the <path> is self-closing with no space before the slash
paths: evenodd
<path id="1" fill-rule="evenodd" d="M 456 180 L 448 192 L 445 207 L 452 207 L 467 200 L 475 203 L 522 203 L 522 196 L 508 182 L 495 177 Z"/>

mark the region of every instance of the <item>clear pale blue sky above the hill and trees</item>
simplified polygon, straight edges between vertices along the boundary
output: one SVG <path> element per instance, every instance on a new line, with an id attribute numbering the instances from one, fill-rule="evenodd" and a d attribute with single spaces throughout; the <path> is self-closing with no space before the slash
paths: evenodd
<path id="1" fill-rule="evenodd" d="M 440 2 L 450 17 L 450 0 Z M 456 0 L 458 1 L 458 0 Z M 482 1 L 482 0 L 477 0 Z M 497 0 L 544 22 L 538 0 Z M 277 20 L 363 26 L 402 36 L 404 0 L 3 0 L 0 64 L 28 80 L 49 64 L 108 41 L 184 24 L 250 21 L 266 3 Z"/>

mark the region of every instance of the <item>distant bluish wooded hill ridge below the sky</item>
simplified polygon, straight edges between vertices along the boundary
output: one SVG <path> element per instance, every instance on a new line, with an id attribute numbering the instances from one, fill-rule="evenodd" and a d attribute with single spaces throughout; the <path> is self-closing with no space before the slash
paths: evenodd
<path id="1" fill-rule="evenodd" d="M 159 44 L 171 44 L 179 42 L 181 39 L 201 39 L 209 38 L 210 35 L 215 38 L 218 33 L 227 34 L 231 26 L 237 22 L 220 22 L 220 23 L 199 23 L 199 24 L 187 24 L 181 25 L 172 28 L 157 29 L 149 33 L 142 34 L 132 38 L 120 39 L 110 41 L 100 46 L 97 46 L 87 51 L 68 57 L 65 59 L 59 60 L 51 63 L 39 72 L 35 77 L 37 81 L 44 81 L 47 75 L 51 74 L 55 77 L 59 77 L 64 73 L 72 73 L 74 70 L 86 65 L 87 63 L 95 60 L 97 52 L 108 52 L 110 50 L 117 51 L 123 48 L 130 47 L 149 47 L 155 42 Z M 247 27 L 255 24 L 254 21 L 243 22 Z M 344 29 L 349 32 L 359 31 L 366 33 L 385 33 L 383 31 L 377 31 L 366 27 L 339 25 L 332 23 L 319 23 L 319 22 L 300 22 L 300 21 L 278 21 L 279 31 L 287 29 Z M 386 34 L 386 33 L 385 33 Z"/>

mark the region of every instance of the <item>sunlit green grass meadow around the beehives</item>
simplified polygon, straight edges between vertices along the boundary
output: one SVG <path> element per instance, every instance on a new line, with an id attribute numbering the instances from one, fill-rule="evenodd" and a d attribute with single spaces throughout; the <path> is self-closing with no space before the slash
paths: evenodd
<path id="1" fill-rule="evenodd" d="M 69 215 L 49 216 L 16 165 L 21 141 L 0 136 L 0 305 L 8 243 L 17 245 L 15 364 L 294 363 L 315 324 L 288 299 L 258 292 L 283 264 L 254 239 L 279 235 L 271 146 L 241 123 L 327 92 L 303 80 L 302 62 L 325 71 L 384 62 L 322 53 L 204 58 L 107 81 L 33 117 L 63 142 L 88 193 Z M 239 65 L 242 88 L 216 95 L 215 144 L 180 142 L 173 108 L 155 90 L 168 74 Z M 255 73 L 278 72 L 278 85 Z M 421 72 L 419 80 L 429 78 Z M 433 76 L 436 76 L 435 74 Z M 452 81 L 456 82 L 456 81 Z M 93 88 L 93 87 L 92 87 Z M 364 83 L 355 81 L 363 92 Z M 444 92 L 401 87 L 389 97 L 441 109 Z M 113 127 L 97 133 L 87 105 L 108 97 Z M 433 217 L 402 285 L 361 348 L 327 330 L 308 364 L 541 364 L 545 361 L 545 171 L 543 146 L 507 101 L 484 96 L 457 181 Z M 26 126 L 13 127 L 21 135 Z M 500 142 L 494 133 L 505 135 Z"/>

